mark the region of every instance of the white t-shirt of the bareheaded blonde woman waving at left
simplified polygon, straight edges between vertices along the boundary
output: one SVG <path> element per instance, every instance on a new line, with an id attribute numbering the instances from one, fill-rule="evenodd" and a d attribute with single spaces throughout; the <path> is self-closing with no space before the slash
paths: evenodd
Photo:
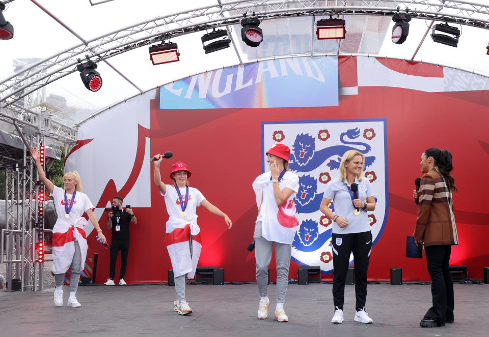
<path id="1" fill-rule="evenodd" d="M 56 224 L 58 224 L 60 221 L 62 222 L 73 222 L 83 216 L 83 213 L 85 213 L 87 210 L 94 208 L 92 205 L 92 202 L 88 198 L 88 196 L 83 193 L 83 192 L 76 192 L 75 194 L 75 200 L 73 202 L 73 206 L 71 207 L 69 216 L 69 219 L 65 218 L 65 190 L 62 188 L 55 186 L 52 190 L 51 194 L 54 204 L 55 204 L 55 209 L 56 209 L 56 214 L 58 215 L 58 219 L 56 220 Z M 66 193 L 66 198 L 68 200 L 68 207 L 71 204 L 71 199 L 73 195 Z M 55 226 L 56 226 L 55 224 Z"/>

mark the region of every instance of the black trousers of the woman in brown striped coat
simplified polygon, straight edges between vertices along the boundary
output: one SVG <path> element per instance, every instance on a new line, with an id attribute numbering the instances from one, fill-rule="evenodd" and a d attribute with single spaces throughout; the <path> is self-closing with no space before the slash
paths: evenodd
<path id="1" fill-rule="evenodd" d="M 453 321 L 453 281 L 450 273 L 450 253 L 452 246 L 428 246 L 424 248 L 426 265 L 431 277 L 433 306 L 424 317 L 440 323 Z"/>

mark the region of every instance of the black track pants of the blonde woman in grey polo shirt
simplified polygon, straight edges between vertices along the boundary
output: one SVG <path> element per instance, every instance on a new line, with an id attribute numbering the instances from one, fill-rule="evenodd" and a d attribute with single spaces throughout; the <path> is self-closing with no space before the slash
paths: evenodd
<path id="1" fill-rule="evenodd" d="M 355 294 L 356 310 L 363 309 L 367 300 L 367 270 L 372 249 L 372 233 L 333 234 L 333 302 L 343 310 L 345 301 L 345 280 L 348 272 L 350 253 L 353 252 L 355 262 Z"/>

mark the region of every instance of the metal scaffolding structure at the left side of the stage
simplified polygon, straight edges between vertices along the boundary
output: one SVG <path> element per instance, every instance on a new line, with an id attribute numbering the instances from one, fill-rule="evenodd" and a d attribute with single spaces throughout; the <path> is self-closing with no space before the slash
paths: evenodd
<path id="1" fill-rule="evenodd" d="M 38 232 L 43 232 L 45 240 L 44 232 L 51 230 L 44 228 L 44 216 L 38 216 L 39 207 L 45 204 L 38 197 L 39 193 L 44 193 L 44 186 L 39 181 L 29 147 L 45 146 L 46 170 L 53 160 L 60 159 L 61 146 L 65 148 L 65 155 L 73 147 L 77 130 L 54 120 L 42 103 L 32 109 L 19 104 L 0 109 L 0 124 L 4 139 L 0 140 L 0 173 L 4 173 L 5 182 L 5 228 L 0 223 L 0 263 L 6 267 L 9 292 L 38 291 L 43 288 L 43 262 L 37 262 L 36 258 Z"/>

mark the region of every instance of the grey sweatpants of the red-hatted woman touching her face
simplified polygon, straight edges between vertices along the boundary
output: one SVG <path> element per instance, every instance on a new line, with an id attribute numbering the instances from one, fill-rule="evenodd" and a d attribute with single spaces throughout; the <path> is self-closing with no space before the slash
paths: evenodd
<path id="1" fill-rule="evenodd" d="M 256 260 L 256 283 L 261 297 L 266 296 L 268 285 L 268 265 L 271 260 L 271 250 L 275 243 L 275 261 L 277 265 L 277 303 L 285 301 L 287 292 L 287 281 L 289 277 L 290 255 L 292 245 L 275 241 L 268 241 L 261 235 L 261 221 L 255 226 L 255 260 Z"/>

